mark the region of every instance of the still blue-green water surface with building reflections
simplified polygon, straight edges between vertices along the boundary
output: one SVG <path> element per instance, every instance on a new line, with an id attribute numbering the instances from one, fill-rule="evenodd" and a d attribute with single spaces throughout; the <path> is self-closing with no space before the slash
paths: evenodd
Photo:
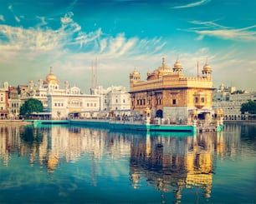
<path id="1" fill-rule="evenodd" d="M 0 203 L 256 203 L 256 126 L 220 133 L 0 124 Z"/>

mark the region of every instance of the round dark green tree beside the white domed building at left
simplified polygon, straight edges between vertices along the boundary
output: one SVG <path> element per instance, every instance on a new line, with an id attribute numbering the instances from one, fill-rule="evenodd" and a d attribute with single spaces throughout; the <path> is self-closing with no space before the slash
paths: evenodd
<path id="1" fill-rule="evenodd" d="M 35 98 L 28 98 L 19 109 L 20 115 L 29 116 L 33 112 L 43 112 L 43 103 Z"/>

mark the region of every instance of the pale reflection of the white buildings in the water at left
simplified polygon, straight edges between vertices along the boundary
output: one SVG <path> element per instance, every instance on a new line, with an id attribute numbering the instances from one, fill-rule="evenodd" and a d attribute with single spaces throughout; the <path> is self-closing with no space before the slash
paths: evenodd
<path id="1" fill-rule="evenodd" d="M 84 154 L 90 154 L 95 162 L 103 154 L 113 158 L 129 155 L 131 144 L 127 137 L 81 127 L 0 124 L 0 158 L 8 166 L 12 153 L 18 152 L 28 157 L 31 166 L 39 164 L 54 172 L 61 162 L 76 162 Z"/>

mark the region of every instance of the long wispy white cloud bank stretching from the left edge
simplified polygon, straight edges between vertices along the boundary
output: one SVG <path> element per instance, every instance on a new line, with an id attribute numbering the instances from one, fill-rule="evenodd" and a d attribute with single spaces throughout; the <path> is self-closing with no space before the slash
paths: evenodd
<path id="1" fill-rule="evenodd" d="M 11 9 L 11 8 L 10 8 Z M 61 26 L 57 29 L 43 27 L 47 25 L 45 17 L 38 17 L 41 22 L 36 27 L 12 27 L 0 25 L 0 34 L 5 40 L 0 41 L 1 53 L 7 60 L 6 52 L 20 53 L 28 58 L 35 58 L 44 52 L 56 52 L 64 49 L 73 52 L 78 48 L 84 53 L 101 53 L 105 57 L 134 56 L 144 53 L 161 52 L 166 46 L 161 37 L 139 39 L 125 37 L 118 33 L 115 37 L 105 34 L 98 28 L 94 32 L 83 32 L 82 27 L 73 20 L 73 13 L 68 12 L 60 18 Z M 75 47 L 79 46 L 79 47 Z M 79 52 L 79 51 L 74 51 Z M 9 56 L 13 56 L 10 54 Z"/>

